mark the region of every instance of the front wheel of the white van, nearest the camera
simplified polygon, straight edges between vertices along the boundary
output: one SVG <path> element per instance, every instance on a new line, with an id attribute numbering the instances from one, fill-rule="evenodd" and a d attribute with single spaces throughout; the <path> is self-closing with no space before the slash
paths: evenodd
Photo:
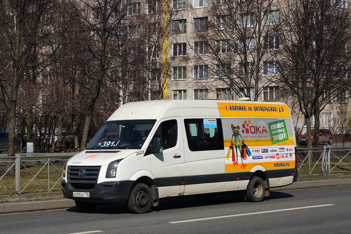
<path id="1" fill-rule="evenodd" d="M 128 199 L 128 208 L 134 214 L 143 214 L 152 206 L 152 194 L 149 186 L 138 183 L 132 189 Z"/>

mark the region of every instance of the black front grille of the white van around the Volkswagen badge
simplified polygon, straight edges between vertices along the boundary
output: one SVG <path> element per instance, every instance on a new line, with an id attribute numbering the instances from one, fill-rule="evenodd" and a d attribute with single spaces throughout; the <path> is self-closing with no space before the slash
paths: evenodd
<path id="1" fill-rule="evenodd" d="M 80 177 L 78 172 L 83 169 L 85 174 Z M 68 166 L 67 182 L 78 190 L 92 190 L 98 181 L 100 166 Z"/>

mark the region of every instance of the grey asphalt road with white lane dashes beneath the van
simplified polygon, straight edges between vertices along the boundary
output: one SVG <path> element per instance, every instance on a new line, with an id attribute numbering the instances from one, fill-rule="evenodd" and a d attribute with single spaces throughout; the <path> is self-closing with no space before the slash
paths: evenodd
<path id="1" fill-rule="evenodd" d="M 165 199 L 147 214 L 125 204 L 1 214 L 0 233 L 351 233 L 350 194 L 351 186 L 337 186 L 271 192 L 259 203 L 229 194 Z"/>

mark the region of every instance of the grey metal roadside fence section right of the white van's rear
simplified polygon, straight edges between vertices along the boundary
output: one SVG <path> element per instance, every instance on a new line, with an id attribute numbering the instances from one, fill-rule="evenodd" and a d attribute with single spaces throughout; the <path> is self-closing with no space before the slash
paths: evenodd
<path id="1" fill-rule="evenodd" d="M 351 172 L 351 147 L 298 148 L 299 176 Z"/>

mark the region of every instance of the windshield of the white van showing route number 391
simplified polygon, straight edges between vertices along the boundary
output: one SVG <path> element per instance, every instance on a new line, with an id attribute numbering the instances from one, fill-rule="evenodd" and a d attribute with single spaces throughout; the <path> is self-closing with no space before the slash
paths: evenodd
<path id="1" fill-rule="evenodd" d="M 155 119 L 107 121 L 86 149 L 140 149 Z"/>

